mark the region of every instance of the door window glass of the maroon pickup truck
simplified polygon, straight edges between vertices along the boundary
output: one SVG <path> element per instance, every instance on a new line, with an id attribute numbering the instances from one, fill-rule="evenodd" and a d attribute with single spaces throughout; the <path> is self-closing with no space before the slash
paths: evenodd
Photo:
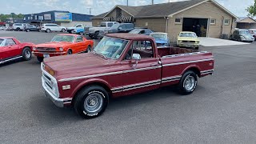
<path id="1" fill-rule="evenodd" d="M 150 41 L 134 41 L 130 50 L 126 54 L 126 60 L 132 58 L 133 54 L 140 54 L 142 59 L 154 58 L 154 50 L 152 49 L 152 42 Z"/>

